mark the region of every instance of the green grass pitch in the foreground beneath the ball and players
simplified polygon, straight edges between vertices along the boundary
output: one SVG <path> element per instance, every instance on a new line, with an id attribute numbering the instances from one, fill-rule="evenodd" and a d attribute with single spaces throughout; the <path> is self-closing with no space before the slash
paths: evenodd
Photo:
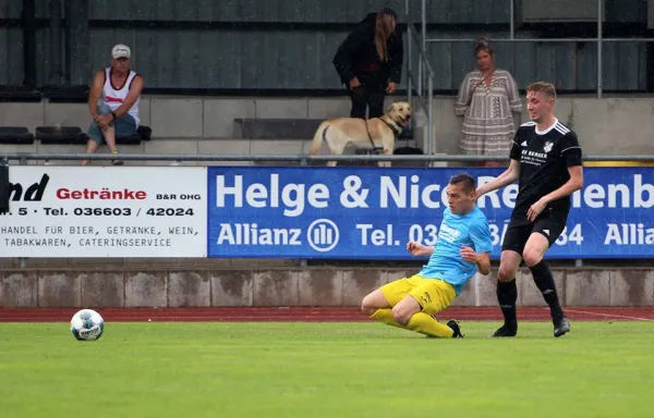
<path id="1" fill-rule="evenodd" d="M 654 322 L 0 324 L 0 417 L 649 417 Z"/>

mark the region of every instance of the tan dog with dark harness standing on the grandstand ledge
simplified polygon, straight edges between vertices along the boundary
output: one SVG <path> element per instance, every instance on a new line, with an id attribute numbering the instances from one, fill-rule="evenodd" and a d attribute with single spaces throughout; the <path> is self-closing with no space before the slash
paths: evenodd
<path id="1" fill-rule="evenodd" d="M 328 119 L 318 126 L 310 155 L 315 156 L 320 145 L 326 143 L 335 156 L 342 155 L 348 144 L 360 148 L 379 148 L 385 155 L 391 156 L 396 136 L 409 125 L 410 120 L 411 104 L 405 101 L 392 103 L 386 114 L 382 118 L 371 118 L 367 123 L 359 118 Z M 327 165 L 335 167 L 336 161 L 329 161 Z M 379 167 L 390 167 L 390 161 L 379 161 Z"/>

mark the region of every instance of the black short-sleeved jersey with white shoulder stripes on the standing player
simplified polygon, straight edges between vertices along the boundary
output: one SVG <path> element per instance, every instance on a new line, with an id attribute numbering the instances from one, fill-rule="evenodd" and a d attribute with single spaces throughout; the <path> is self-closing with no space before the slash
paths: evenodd
<path id="1" fill-rule="evenodd" d="M 581 165 L 581 147 L 577 134 L 558 120 L 543 132 L 535 122 L 520 125 L 513 138 L 510 157 L 520 161 L 520 179 L 513 218 L 526 219 L 526 212 L 543 196 L 570 180 L 569 167 Z M 552 210 L 565 217 L 570 210 L 570 196 L 552 201 Z"/>

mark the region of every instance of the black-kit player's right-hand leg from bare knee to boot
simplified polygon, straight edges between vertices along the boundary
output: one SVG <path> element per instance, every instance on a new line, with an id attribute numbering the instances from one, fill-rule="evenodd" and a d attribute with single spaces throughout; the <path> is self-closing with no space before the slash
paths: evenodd
<path id="1" fill-rule="evenodd" d="M 543 255 L 549 247 L 547 238 L 541 233 L 533 234 L 524 246 L 524 263 L 529 267 L 534 278 L 536 287 L 549 306 L 549 314 L 554 324 L 554 336 L 559 337 L 570 331 L 570 323 L 561 308 L 556 284 L 552 271 L 543 260 Z"/>

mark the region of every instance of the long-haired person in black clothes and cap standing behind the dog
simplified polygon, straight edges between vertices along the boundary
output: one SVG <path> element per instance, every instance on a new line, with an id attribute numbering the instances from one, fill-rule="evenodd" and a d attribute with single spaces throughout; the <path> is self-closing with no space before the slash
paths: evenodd
<path id="1" fill-rule="evenodd" d="M 402 36 L 396 32 L 392 9 L 370 13 L 348 35 L 334 57 L 334 65 L 352 100 L 351 118 L 384 114 L 384 98 L 397 90 L 402 75 Z"/>

